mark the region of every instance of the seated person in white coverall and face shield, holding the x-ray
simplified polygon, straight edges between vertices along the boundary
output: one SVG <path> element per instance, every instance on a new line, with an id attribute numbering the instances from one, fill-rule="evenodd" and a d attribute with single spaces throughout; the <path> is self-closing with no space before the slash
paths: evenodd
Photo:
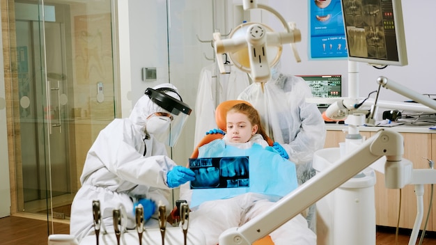
<path id="1" fill-rule="evenodd" d="M 171 210 L 171 188 L 194 180 L 194 172 L 167 157 L 162 142 L 176 143 L 191 111 L 176 87 L 160 84 L 146 89 L 129 118 L 115 119 L 102 129 L 88 151 L 81 188 L 72 202 L 71 235 L 80 241 L 94 233 L 93 200 L 100 200 L 102 223 L 108 231 L 114 230 L 116 209 L 127 214 L 125 228 L 135 228 L 132 210 L 144 198 Z M 146 227 L 159 227 L 155 210 L 154 204 L 148 210 L 144 207 L 144 216 L 149 212 L 152 217 Z"/>

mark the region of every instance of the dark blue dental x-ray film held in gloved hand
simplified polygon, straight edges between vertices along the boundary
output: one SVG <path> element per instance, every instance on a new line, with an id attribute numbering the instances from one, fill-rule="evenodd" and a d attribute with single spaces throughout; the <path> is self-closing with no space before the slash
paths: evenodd
<path id="1" fill-rule="evenodd" d="M 191 189 L 249 187 L 249 157 L 191 158 Z"/>

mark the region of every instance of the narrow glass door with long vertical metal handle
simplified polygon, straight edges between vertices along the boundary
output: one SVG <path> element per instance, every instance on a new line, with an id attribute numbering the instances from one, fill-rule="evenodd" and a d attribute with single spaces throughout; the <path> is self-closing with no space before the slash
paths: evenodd
<path id="1" fill-rule="evenodd" d="M 47 17 L 51 22 L 41 30 L 41 22 L 22 16 L 26 8 L 38 10 L 35 4 L 15 4 L 23 210 L 47 212 L 40 203 L 71 192 L 65 29 L 62 19 Z M 54 17 L 54 10 L 47 8 L 46 16 Z M 56 174 L 50 176 L 51 170 Z"/>

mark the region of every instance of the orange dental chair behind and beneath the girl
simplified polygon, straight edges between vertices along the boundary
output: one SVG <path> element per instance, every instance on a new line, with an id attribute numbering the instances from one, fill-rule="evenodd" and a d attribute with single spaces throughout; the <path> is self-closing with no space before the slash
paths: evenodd
<path id="1" fill-rule="evenodd" d="M 217 109 L 215 111 L 215 121 L 217 122 L 217 126 L 219 129 L 223 130 L 224 132 L 227 129 L 226 125 L 226 115 L 227 111 L 231 109 L 232 106 L 239 103 L 245 103 L 251 105 L 249 102 L 246 102 L 244 100 L 227 100 L 225 102 L 222 102 L 217 106 Z M 201 145 L 205 145 L 207 143 L 210 143 L 211 141 L 214 141 L 215 139 L 221 139 L 223 137 L 222 134 L 207 134 L 201 139 L 200 143 L 196 146 L 194 152 L 192 152 L 191 158 L 197 158 L 198 157 L 198 148 L 201 147 Z M 274 141 L 268 137 L 268 139 L 265 139 L 267 141 L 268 145 L 272 146 Z M 266 237 L 263 237 L 262 239 L 259 239 L 258 241 L 254 242 L 254 245 L 274 245 L 274 242 L 272 242 L 271 237 L 268 235 Z"/>

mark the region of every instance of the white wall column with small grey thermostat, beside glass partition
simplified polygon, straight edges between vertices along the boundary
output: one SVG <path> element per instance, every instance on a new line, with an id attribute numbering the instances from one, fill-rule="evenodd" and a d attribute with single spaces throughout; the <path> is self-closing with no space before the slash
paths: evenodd
<path id="1" fill-rule="evenodd" d="M 118 24 L 120 95 L 125 118 L 146 88 L 169 81 L 166 2 L 118 1 Z M 141 70 L 146 67 L 157 69 L 157 79 L 142 80 Z"/>

